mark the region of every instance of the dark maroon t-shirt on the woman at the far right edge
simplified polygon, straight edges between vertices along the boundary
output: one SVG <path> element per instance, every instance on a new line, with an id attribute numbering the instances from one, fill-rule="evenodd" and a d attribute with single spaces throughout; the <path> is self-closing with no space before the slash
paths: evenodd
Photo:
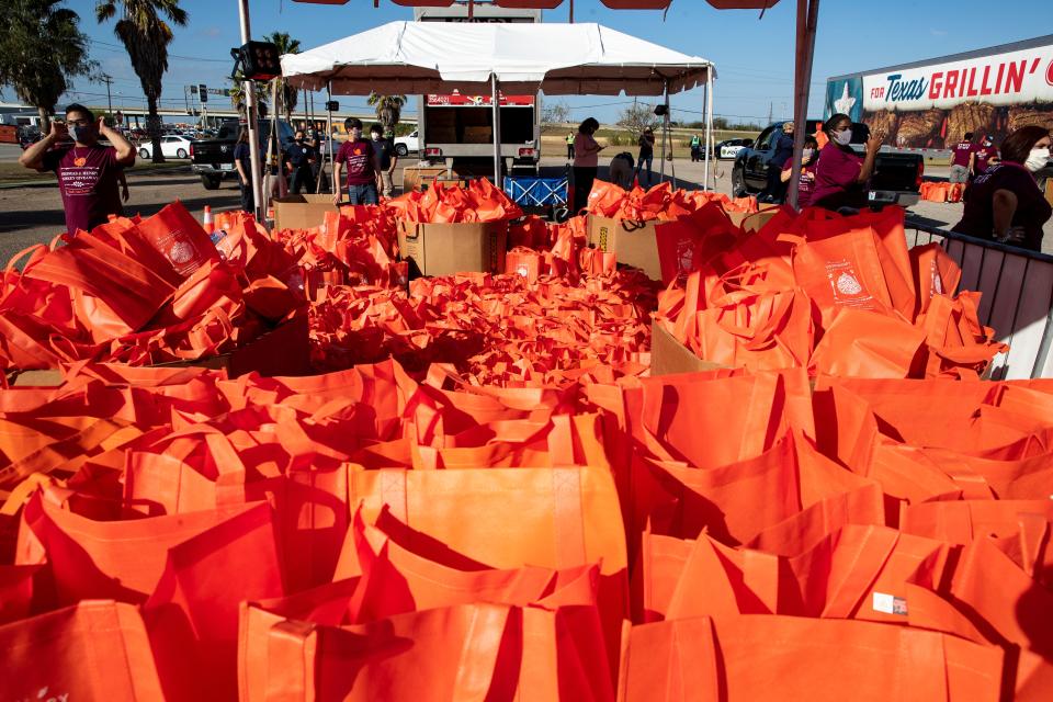
<path id="1" fill-rule="evenodd" d="M 1008 190 L 1017 196 L 1017 211 L 1012 213 L 1010 226 L 1023 227 L 1024 240 L 1021 246 L 1041 250 L 1042 225 L 1053 214 L 1053 207 L 1045 202 L 1034 177 L 1019 163 L 1009 161 L 990 166 L 973 180 L 962 220 L 954 225 L 954 231 L 980 239 L 992 238 L 995 228 L 994 196 L 998 190 Z"/>

